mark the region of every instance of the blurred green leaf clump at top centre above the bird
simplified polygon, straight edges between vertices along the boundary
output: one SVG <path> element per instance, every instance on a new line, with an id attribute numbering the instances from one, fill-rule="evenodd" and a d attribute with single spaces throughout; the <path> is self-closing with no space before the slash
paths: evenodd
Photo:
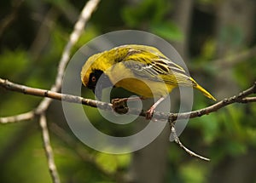
<path id="1" fill-rule="evenodd" d="M 170 10 L 171 1 L 145 0 L 125 7 L 122 15 L 126 25 L 131 28 L 150 31 L 169 41 L 182 41 L 182 31 L 177 24 L 168 19 Z"/>

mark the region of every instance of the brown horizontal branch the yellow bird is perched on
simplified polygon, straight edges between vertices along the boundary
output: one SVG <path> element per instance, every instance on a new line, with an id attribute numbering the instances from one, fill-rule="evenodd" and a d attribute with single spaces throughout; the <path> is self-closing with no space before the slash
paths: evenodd
<path id="1" fill-rule="evenodd" d="M 0 78 L 0 86 L 3 87 L 4 89 L 12 90 L 12 91 L 23 93 L 23 94 L 31 94 L 35 96 L 48 97 L 55 100 L 62 100 L 62 101 L 67 101 L 71 103 L 83 104 L 85 106 L 97 107 L 106 111 L 113 110 L 112 108 L 113 105 L 106 102 L 84 99 L 83 97 L 75 96 L 72 94 L 60 94 L 60 93 L 56 93 L 46 89 L 36 89 L 32 87 L 26 87 L 24 85 L 20 85 L 17 83 L 11 83 L 8 80 L 4 80 L 2 78 Z M 251 88 L 244 90 L 240 94 L 237 94 L 230 98 L 220 100 L 216 104 L 213 104 L 212 106 L 207 106 L 206 108 L 202 108 L 200 110 L 196 110 L 193 112 L 169 113 L 169 114 L 166 114 L 163 112 L 154 112 L 154 118 L 157 120 L 165 120 L 166 118 L 168 118 L 169 123 L 174 123 L 180 119 L 201 117 L 203 115 L 206 115 L 212 112 L 217 112 L 219 109 L 223 108 L 224 106 L 228 106 L 233 103 L 244 104 L 249 102 L 256 102 L 256 97 L 247 97 L 248 95 L 255 94 L 255 93 L 256 93 L 256 82 L 253 83 L 253 86 Z M 129 109 L 129 112 L 131 114 L 138 113 L 136 109 Z M 141 111 L 139 115 L 142 117 L 145 117 L 146 112 Z M 0 117 L 0 122 L 3 123 L 2 121 L 3 121 L 3 117 Z"/>

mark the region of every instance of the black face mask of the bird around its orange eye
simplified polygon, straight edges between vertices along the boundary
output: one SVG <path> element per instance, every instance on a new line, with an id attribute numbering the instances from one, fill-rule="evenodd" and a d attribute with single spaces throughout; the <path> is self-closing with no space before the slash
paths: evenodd
<path id="1" fill-rule="evenodd" d="M 100 79 L 100 83 L 98 83 L 99 79 Z M 97 85 L 97 89 L 96 89 L 96 85 Z M 87 87 L 88 89 L 92 89 L 97 99 L 102 100 L 102 89 L 113 87 L 113 84 L 109 80 L 109 77 L 106 74 L 104 74 L 103 71 L 95 70 L 90 73 L 89 83 Z"/>

